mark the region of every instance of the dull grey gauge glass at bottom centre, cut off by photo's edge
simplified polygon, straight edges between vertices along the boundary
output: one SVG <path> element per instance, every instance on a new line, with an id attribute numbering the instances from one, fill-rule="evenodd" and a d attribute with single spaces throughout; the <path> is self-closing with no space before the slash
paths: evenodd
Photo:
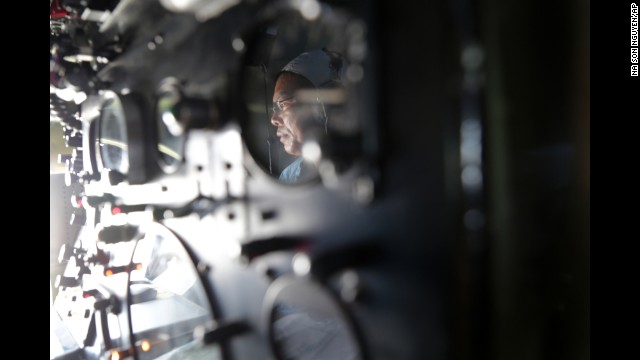
<path id="1" fill-rule="evenodd" d="M 279 292 L 271 313 L 271 333 L 279 359 L 362 359 L 342 310 L 313 283 L 293 282 Z"/>

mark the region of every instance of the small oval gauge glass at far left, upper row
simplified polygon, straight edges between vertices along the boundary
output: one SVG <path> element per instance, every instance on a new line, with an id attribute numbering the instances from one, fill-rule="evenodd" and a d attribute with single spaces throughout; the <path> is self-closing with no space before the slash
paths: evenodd
<path id="1" fill-rule="evenodd" d="M 102 106 L 100 116 L 100 155 L 105 168 L 126 174 L 129 171 L 127 123 L 122 102 L 117 95 L 111 95 Z"/>

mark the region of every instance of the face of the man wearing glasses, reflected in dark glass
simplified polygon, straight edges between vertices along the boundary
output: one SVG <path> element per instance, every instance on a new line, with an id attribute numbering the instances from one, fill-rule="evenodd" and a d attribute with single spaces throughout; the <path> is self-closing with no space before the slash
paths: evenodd
<path id="1" fill-rule="evenodd" d="M 295 111 L 295 91 L 300 89 L 299 82 L 292 75 L 283 74 L 276 81 L 273 91 L 273 108 L 271 123 L 277 127 L 276 136 L 284 146 L 284 150 L 295 156 L 302 155 L 302 132 L 299 114 Z"/>

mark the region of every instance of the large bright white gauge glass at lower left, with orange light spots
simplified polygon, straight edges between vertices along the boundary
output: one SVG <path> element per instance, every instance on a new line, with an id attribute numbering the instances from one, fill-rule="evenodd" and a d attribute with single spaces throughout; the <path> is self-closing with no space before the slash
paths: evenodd
<path id="1" fill-rule="evenodd" d="M 139 359 L 219 359 L 194 332 L 213 329 L 211 308 L 196 269 L 173 234 L 158 227 L 138 241 L 131 272 L 131 325 Z"/>

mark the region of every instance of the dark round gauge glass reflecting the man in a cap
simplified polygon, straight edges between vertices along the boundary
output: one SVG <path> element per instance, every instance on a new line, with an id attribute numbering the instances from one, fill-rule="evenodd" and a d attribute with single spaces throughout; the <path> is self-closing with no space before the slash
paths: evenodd
<path id="1" fill-rule="evenodd" d="M 313 21 L 304 11 L 283 12 L 248 45 L 243 136 L 257 163 L 281 183 L 319 180 L 322 160 L 347 163 L 340 169 L 352 164 L 340 157 L 357 149 L 360 131 L 351 92 L 362 76 L 349 76 L 349 69 L 365 55 L 352 56 L 363 46 L 355 23 L 338 8 Z"/>

